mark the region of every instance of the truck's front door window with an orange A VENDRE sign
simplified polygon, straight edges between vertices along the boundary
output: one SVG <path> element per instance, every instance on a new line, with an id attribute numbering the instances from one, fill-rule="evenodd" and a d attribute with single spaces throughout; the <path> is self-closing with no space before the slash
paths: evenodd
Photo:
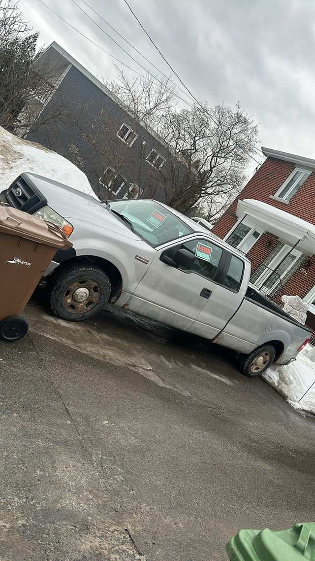
<path id="1" fill-rule="evenodd" d="M 223 250 L 214 243 L 202 239 L 185 242 L 182 247 L 191 251 L 195 259 L 192 269 L 184 269 L 182 266 L 179 266 L 179 269 L 198 273 L 209 280 L 213 279 Z"/>

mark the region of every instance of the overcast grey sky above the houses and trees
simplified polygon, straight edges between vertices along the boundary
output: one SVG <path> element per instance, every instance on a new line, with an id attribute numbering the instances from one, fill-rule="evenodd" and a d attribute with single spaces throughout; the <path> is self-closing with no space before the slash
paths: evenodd
<path id="1" fill-rule="evenodd" d="M 127 1 L 200 102 L 206 101 L 210 107 L 222 102 L 235 107 L 239 100 L 243 111 L 258 124 L 258 149 L 265 146 L 315 159 L 315 0 Z M 169 76 L 170 68 L 124 0 L 42 2 L 20 0 L 24 20 L 34 31 L 40 31 L 39 46 L 57 42 L 98 77 L 115 78 L 113 57 L 143 74 L 143 69 L 105 31 L 142 66 L 158 75 L 105 20 Z M 191 102 L 182 91 L 178 90 L 178 95 Z M 182 101 L 179 104 L 187 107 Z M 264 159 L 262 155 L 256 158 L 260 162 Z"/>

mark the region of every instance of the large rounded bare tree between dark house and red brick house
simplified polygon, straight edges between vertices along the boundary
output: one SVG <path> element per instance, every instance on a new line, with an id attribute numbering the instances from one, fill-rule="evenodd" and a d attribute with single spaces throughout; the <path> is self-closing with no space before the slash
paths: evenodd
<path id="1" fill-rule="evenodd" d="M 244 185 L 244 169 L 254 150 L 257 127 L 240 109 L 217 105 L 214 110 L 194 104 L 191 111 L 170 111 L 158 130 L 187 172 L 164 177 L 165 200 L 184 214 L 200 205 L 207 219 L 221 213 Z"/>

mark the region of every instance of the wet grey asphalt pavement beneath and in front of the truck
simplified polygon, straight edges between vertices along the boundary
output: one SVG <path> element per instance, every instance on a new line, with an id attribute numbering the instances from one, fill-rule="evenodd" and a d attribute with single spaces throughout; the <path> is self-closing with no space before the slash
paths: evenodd
<path id="1" fill-rule="evenodd" d="M 106 308 L 0 342 L 0 558 L 226 560 L 240 528 L 314 521 L 315 420 L 232 352 Z"/>

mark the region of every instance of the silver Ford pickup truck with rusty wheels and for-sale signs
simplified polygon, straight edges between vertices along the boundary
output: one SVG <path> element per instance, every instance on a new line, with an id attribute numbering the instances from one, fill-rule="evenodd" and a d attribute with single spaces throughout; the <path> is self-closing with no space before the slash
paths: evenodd
<path id="1" fill-rule="evenodd" d="M 235 350 L 247 376 L 288 364 L 309 340 L 304 325 L 248 286 L 243 254 L 162 203 L 98 201 L 33 173 L 0 200 L 70 237 L 73 247 L 45 272 L 60 318 L 90 318 L 109 301 Z"/>

